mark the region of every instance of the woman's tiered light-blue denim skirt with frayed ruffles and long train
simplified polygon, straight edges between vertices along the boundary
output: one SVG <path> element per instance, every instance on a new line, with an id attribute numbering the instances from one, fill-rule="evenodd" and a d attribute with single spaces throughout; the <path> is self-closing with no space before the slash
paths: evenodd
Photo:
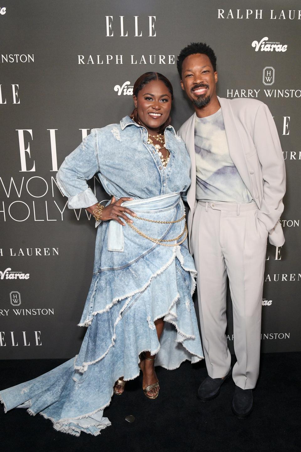
<path id="1" fill-rule="evenodd" d="M 182 213 L 179 203 L 164 219 L 178 219 Z M 183 226 L 183 221 L 173 227 L 153 226 L 153 235 L 168 240 Z M 5 411 L 27 408 L 29 414 L 51 419 L 56 430 L 75 436 L 82 431 L 97 436 L 111 425 L 103 410 L 110 404 L 114 383 L 122 376 L 132 380 L 139 375 L 142 351 L 156 354 L 155 365 L 170 370 L 185 360 L 196 363 L 203 358 L 191 298 L 196 272 L 187 240 L 171 247 L 154 245 L 125 226 L 129 259 L 127 253 L 107 250 L 106 224 L 98 229 L 100 249 L 96 246 L 93 280 L 79 324 L 88 330 L 79 354 L 0 393 Z M 159 342 L 154 321 L 161 317 L 165 325 Z"/>

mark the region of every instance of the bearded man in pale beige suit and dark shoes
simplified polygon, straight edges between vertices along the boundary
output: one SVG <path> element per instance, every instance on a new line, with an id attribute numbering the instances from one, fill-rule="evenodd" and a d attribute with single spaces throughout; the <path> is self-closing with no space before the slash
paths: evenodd
<path id="1" fill-rule="evenodd" d="M 252 410 L 259 373 L 267 238 L 275 246 L 284 243 L 279 218 L 285 165 L 269 108 L 255 99 L 217 96 L 216 56 L 210 47 L 191 43 L 178 56 L 177 69 L 195 110 L 179 135 L 191 159 L 188 230 L 208 371 L 198 396 L 202 401 L 216 397 L 231 373 L 225 334 L 228 276 L 237 358 L 231 406 L 242 419 Z"/>

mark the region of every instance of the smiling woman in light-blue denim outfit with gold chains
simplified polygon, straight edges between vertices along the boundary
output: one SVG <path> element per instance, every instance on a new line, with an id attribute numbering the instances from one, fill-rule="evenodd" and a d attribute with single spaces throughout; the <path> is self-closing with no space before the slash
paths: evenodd
<path id="1" fill-rule="evenodd" d="M 156 72 L 134 84 L 134 111 L 119 124 L 93 129 L 57 173 L 68 207 L 85 207 L 98 226 L 93 278 L 80 326 L 79 354 L 34 380 L 1 391 L 16 406 L 51 419 L 54 428 L 98 435 L 110 425 L 103 409 L 113 392 L 143 372 L 155 399 L 156 365 L 175 369 L 203 358 L 191 294 L 195 268 L 187 248 L 180 194 L 190 159 L 170 126 L 169 80 Z M 86 180 L 97 173 L 112 196 L 103 207 Z M 117 201 L 116 201 L 117 199 Z"/>

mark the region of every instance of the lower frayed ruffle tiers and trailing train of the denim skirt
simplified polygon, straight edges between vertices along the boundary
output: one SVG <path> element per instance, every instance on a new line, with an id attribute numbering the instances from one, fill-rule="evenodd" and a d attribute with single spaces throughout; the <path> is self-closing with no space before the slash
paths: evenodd
<path id="1" fill-rule="evenodd" d="M 115 381 L 139 376 L 141 352 L 156 355 L 155 365 L 169 370 L 186 360 L 203 359 L 191 299 L 196 272 L 186 251 L 176 245 L 167 262 L 139 288 L 113 298 L 105 309 L 93 310 L 79 354 L 41 377 L 2 391 L 5 412 L 27 408 L 63 433 L 97 436 L 111 425 L 103 410 L 111 403 Z M 154 325 L 158 318 L 165 321 L 160 343 Z"/>

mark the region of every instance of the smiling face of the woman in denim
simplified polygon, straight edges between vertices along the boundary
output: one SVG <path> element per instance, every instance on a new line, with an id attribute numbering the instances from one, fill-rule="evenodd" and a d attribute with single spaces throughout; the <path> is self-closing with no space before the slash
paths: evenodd
<path id="1" fill-rule="evenodd" d="M 133 96 L 138 121 L 148 133 L 157 133 L 171 111 L 171 93 L 161 80 L 152 80 Z"/>

